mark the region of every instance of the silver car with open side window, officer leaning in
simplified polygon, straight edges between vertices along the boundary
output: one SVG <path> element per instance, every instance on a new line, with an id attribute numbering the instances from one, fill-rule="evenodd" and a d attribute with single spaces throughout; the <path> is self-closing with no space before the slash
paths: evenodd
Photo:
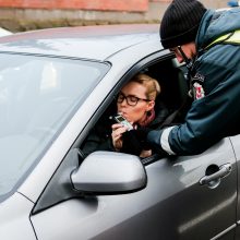
<path id="1" fill-rule="evenodd" d="M 185 67 L 160 46 L 158 25 L 0 39 L 1 240 L 240 238 L 239 135 L 196 156 L 84 155 L 137 72 L 160 82 L 169 109 L 185 99 Z"/>

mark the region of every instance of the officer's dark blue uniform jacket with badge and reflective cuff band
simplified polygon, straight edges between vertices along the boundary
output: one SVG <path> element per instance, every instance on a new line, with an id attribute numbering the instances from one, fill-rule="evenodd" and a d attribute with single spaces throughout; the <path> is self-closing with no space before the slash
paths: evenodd
<path id="1" fill-rule="evenodd" d="M 184 123 L 147 134 L 153 146 L 172 155 L 193 155 L 225 136 L 240 133 L 240 45 L 223 43 L 206 48 L 237 29 L 240 29 L 240 9 L 208 10 L 204 14 L 195 41 L 199 99 L 193 100 Z"/>

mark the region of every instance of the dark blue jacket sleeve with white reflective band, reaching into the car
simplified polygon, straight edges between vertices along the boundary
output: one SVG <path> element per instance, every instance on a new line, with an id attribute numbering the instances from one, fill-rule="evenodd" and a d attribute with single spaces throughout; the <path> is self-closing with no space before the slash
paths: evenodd
<path id="1" fill-rule="evenodd" d="M 231 118 L 232 103 L 220 92 L 194 100 L 184 123 L 151 131 L 147 141 L 169 155 L 194 155 L 208 148 L 221 139 Z"/>

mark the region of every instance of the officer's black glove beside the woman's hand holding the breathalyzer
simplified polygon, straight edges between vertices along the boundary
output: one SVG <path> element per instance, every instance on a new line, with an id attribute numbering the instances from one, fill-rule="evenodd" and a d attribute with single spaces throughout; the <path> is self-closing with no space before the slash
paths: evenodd
<path id="1" fill-rule="evenodd" d="M 140 156 L 143 149 L 149 149 L 146 143 L 146 136 L 151 129 L 139 128 L 122 134 L 122 153 Z"/>

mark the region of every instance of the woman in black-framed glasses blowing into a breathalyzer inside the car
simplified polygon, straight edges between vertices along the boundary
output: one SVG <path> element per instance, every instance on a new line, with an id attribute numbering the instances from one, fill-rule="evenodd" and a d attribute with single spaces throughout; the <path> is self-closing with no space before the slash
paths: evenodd
<path id="1" fill-rule="evenodd" d="M 161 109 L 158 116 L 155 112 L 155 100 L 159 93 L 160 86 L 158 82 L 146 74 L 140 73 L 127 83 L 119 93 L 117 98 L 118 113 L 122 115 L 134 129 L 139 127 L 158 127 L 163 122 L 164 117 L 167 116 L 166 109 Z M 152 155 L 151 149 L 134 151 L 137 140 L 131 139 L 128 141 L 127 135 L 130 134 L 128 134 L 127 127 L 121 123 L 115 123 L 111 128 L 115 151 L 132 153 L 140 155 L 140 157 Z"/>

